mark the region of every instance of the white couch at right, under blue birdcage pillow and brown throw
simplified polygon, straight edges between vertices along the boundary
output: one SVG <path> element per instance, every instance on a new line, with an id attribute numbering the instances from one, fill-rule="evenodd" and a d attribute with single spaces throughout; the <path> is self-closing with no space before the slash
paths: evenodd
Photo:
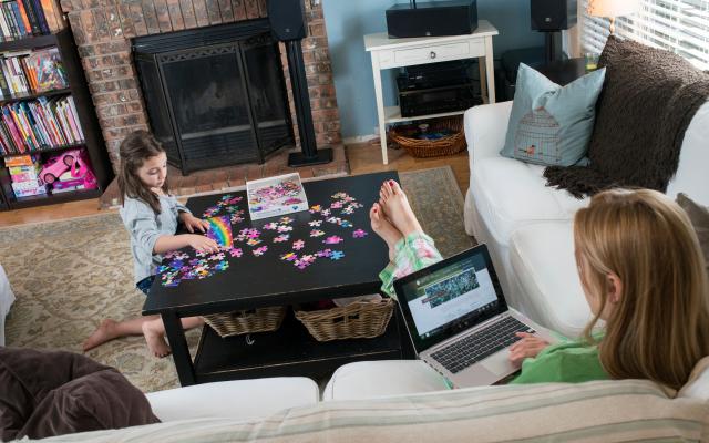
<path id="1" fill-rule="evenodd" d="M 502 157 L 512 102 L 465 112 L 470 188 L 465 230 L 490 246 L 508 303 L 567 337 L 589 319 L 574 260 L 572 222 L 588 204 L 546 186 L 543 166 Z M 699 109 L 682 142 L 667 194 L 684 192 L 709 205 L 709 103 Z"/>

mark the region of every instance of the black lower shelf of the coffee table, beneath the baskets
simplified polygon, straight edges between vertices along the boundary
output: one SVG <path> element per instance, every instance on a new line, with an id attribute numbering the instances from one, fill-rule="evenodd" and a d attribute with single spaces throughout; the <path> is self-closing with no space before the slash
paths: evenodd
<path id="1" fill-rule="evenodd" d="M 292 312 L 277 331 L 226 339 L 205 324 L 194 360 L 196 382 L 296 375 L 320 379 L 353 361 L 402 359 L 405 352 L 398 320 L 393 316 L 387 331 L 373 339 L 328 342 L 314 339 Z"/>

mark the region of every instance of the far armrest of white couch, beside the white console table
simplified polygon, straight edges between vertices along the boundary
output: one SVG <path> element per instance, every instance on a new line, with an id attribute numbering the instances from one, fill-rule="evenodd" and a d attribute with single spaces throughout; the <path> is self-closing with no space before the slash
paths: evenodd
<path id="1" fill-rule="evenodd" d="M 500 155 L 505 144 L 511 111 L 512 102 L 473 106 L 465 111 L 465 141 L 471 171 L 473 161 Z"/>

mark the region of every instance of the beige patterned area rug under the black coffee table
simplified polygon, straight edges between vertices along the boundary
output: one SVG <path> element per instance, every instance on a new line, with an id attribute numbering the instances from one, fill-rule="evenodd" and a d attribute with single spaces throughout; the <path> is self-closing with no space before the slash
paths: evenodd
<path id="1" fill-rule="evenodd" d="M 463 196 L 450 167 L 400 174 L 424 230 L 444 256 L 474 245 L 463 229 Z M 7 344 L 82 352 L 104 318 L 140 315 L 129 237 L 117 213 L 0 229 L 0 264 L 17 302 Z M 187 334 L 194 352 L 199 332 Z M 144 392 L 178 387 L 172 358 L 151 357 L 143 337 L 105 343 L 86 353 L 117 368 Z"/>

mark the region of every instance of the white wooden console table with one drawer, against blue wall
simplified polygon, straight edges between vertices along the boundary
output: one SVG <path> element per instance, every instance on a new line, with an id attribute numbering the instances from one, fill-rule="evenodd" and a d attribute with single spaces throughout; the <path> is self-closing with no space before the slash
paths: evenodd
<path id="1" fill-rule="evenodd" d="M 475 32 L 464 35 L 418 37 L 412 39 L 390 39 L 386 32 L 364 35 L 364 49 L 372 58 L 381 159 L 384 164 L 389 163 L 387 157 L 387 124 L 458 115 L 465 111 L 402 117 L 399 106 L 384 106 L 381 90 L 381 71 L 414 64 L 477 58 L 480 60 L 480 85 L 483 100 L 485 100 L 485 103 L 495 103 L 492 38 L 497 33 L 497 29 L 490 22 L 480 20 Z M 483 58 L 485 59 L 484 63 Z"/>

